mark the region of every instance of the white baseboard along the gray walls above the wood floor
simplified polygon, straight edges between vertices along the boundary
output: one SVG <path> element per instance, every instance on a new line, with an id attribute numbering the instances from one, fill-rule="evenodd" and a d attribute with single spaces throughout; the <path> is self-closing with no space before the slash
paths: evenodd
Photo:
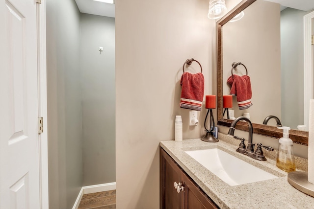
<path id="1" fill-rule="evenodd" d="M 101 184 L 101 185 L 92 185 L 92 186 L 83 186 L 79 193 L 78 198 L 75 201 L 75 204 L 73 206 L 73 209 L 78 209 L 78 205 L 80 203 L 80 200 L 82 199 L 83 194 L 90 194 L 94 192 L 101 192 L 101 191 L 109 191 L 116 189 L 116 183 L 107 183 L 107 184 Z"/>

